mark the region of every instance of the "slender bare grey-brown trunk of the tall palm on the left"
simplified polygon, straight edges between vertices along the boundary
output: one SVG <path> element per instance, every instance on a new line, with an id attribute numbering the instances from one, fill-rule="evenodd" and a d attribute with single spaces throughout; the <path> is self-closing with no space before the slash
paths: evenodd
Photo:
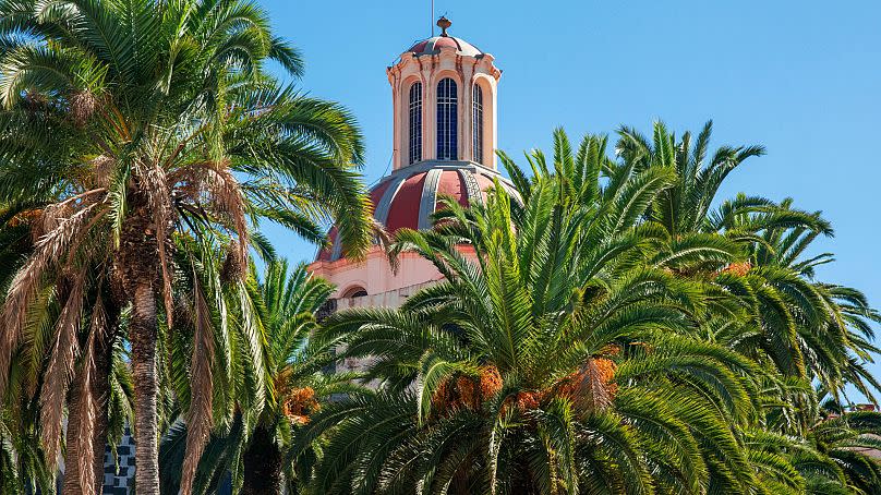
<path id="1" fill-rule="evenodd" d="M 159 446 L 157 432 L 156 297 L 150 283 L 134 290 L 131 319 L 132 378 L 134 382 L 135 493 L 158 495 Z"/>

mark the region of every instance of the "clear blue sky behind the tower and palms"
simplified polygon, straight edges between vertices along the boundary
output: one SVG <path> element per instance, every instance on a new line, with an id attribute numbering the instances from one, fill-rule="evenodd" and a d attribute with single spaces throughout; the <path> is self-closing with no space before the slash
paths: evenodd
<path id="1" fill-rule="evenodd" d="M 431 0 L 261 0 L 306 61 L 299 83 L 340 101 L 363 128 L 372 182 L 391 156 L 385 69 L 430 35 Z M 768 155 L 729 176 L 739 191 L 822 210 L 837 262 L 819 276 L 881 306 L 881 2 L 436 0 L 449 33 L 503 70 L 498 144 L 548 149 L 551 132 L 681 133 L 714 121 L 714 145 L 762 144 Z M 314 249 L 271 229 L 280 254 Z M 881 375 L 881 365 L 874 366 Z"/>

